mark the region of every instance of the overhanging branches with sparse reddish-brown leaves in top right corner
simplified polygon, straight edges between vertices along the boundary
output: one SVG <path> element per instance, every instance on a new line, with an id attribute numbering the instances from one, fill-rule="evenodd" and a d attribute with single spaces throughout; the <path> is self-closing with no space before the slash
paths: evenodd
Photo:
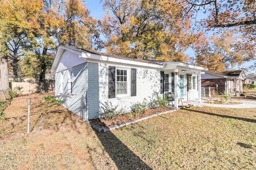
<path id="1" fill-rule="evenodd" d="M 249 49 L 255 46 L 256 35 L 256 2 L 254 0 L 186 0 L 190 6 L 188 11 L 197 14 L 204 14 L 205 18 L 200 18 L 200 23 L 208 29 L 223 28 L 233 29 L 237 33 L 241 33 L 244 43 L 247 43 Z M 253 51 L 254 52 L 254 51 Z M 248 51 L 250 53 L 250 51 Z M 252 55 L 251 55 L 252 56 Z M 255 60 L 246 57 L 248 61 Z M 256 63 L 250 66 L 255 68 Z"/>

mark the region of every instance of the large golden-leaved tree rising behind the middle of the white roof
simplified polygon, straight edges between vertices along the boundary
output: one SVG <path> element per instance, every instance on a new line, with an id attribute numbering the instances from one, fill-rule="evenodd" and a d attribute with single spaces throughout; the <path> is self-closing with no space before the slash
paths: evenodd
<path id="1" fill-rule="evenodd" d="M 196 35 L 178 0 L 103 0 L 102 21 L 108 53 L 140 59 L 187 61 L 184 51 Z"/>

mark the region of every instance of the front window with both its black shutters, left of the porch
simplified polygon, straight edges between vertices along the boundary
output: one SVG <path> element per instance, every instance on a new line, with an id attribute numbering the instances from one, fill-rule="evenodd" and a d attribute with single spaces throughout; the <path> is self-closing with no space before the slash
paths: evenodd
<path id="1" fill-rule="evenodd" d="M 136 68 L 108 67 L 108 98 L 136 96 Z"/>

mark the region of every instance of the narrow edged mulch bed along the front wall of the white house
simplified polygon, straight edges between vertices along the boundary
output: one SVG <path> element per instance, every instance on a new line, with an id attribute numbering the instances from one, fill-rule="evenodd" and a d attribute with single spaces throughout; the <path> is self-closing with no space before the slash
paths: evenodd
<path id="1" fill-rule="evenodd" d="M 104 118 L 97 118 L 97 119 L 90 119 L 90 123 L 99 126 L 99 127 L 110 127 L 113 125 L 121 125 L 123 123 L 129 122 L 129 121 L 133 121 L 136 119 L 140 119 L 142 117 L 147 117 L 150 115 L 154 115 L 156 113 L 161 113 L 163 111 L 169 111 L 169 110 L 173 110 L 173 107 L 155 107 L 155 108 L 150 108 L 150 109 L 146 109 L 144 111 L 144 113 L 142 113 L 141 115 L 138 115 L 137 117 L 130 117 L 128 116 L 127 113 L 124 113 L 122 115 L 118 115 L 117 117 L 114 117 L 112 120 L 107 121 Z M 132 113 L 134 115 L 134 113 Z"/>

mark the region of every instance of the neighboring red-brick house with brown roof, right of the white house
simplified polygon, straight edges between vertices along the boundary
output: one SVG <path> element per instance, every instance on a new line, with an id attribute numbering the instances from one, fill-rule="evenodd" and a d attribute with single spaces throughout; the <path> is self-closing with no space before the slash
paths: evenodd
<path id="1" fill-rule="evenodd" d="M 218 94 L 220 92 L 226 93 L 235 93 L 243 92 L 243 83 L 245 75 L 241 70 L 233 71 L 205 71 L 205 74 L 202 74 L 202 87 L 214 87 L 218 84 Z"/>

